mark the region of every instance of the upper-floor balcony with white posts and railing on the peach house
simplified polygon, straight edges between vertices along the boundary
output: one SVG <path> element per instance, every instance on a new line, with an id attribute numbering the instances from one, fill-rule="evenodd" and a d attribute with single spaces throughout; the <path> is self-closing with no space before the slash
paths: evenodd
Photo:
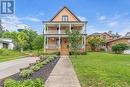
<path id="1" fill-rule="evenodd" d="M 66 30 L 78 30 L 80 34 L 86 34 L 86 23 L 44 23 L 44 35 L 66 34 Z"/>

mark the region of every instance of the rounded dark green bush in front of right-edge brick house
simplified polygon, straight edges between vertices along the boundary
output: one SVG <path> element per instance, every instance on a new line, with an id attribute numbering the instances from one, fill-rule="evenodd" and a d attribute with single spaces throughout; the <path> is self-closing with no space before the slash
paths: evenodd
<path id="1" fill-rule="evenodd" d="M 125 50 L 128 50 L 130 48 L 130 46 L 126 43 L 119 43 L 116 44 L 114 46 L 112 46 L 112 51 L 116 54 L 121 54 L 123 53 Z"/>

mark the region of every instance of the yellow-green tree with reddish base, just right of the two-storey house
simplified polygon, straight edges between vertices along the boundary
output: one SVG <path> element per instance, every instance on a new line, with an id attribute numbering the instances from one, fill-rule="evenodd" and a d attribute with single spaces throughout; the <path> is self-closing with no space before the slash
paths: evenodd
<path id="1" fill-rule="evenodd" d="M 106 42 L 99 36 L 89 36 L 87 38 L 87 43 L 90 45 L 91 50 L 96 51 L 98 47 L 104 45 Z"/>

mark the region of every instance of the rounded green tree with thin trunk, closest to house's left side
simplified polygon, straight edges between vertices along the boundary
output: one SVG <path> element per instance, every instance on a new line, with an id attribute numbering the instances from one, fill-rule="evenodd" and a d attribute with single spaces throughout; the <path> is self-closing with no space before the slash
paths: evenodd
<path id="1" fill-rule="evenodd" d="M 38 35 L 33 40 L 33 47 L 34 47 L 34 49 L 37 49 L 38 55 L 39 55 L 39 50 L 43 48 L 43 43 L 44 43 L 43 35 Z"/>

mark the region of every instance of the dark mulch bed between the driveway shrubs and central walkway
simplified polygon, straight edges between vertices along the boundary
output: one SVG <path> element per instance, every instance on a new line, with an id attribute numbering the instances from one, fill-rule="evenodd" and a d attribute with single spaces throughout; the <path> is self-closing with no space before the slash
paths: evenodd
<path id="1" fill-rule="evenodd" d="M 47 80 L 47 78 L 49 77 L 51 71 L 53 70 L 54 66 L 56 65 L 56 63 L 58 62 L 59 58 L 56 58 L 54 61 L 48 63 L 47 65 L 45 65 L 43 68 L 41 68 L 39 71 L 35 71 L 30 77 L 28 78 L 22 78 L 19 76 L 19 73 L 16 73 L 12 76 L 9 76 L 3 80 L 0 81 L 0 87 L 4 87 L 4 80 L 6 79 L 14 79 L 17 81 L 21 81 L 21 80 L 26 80 L 26 79 L 36 79 L 36 78 L 42 78 L 44 79 L 44 81 Z"/>

